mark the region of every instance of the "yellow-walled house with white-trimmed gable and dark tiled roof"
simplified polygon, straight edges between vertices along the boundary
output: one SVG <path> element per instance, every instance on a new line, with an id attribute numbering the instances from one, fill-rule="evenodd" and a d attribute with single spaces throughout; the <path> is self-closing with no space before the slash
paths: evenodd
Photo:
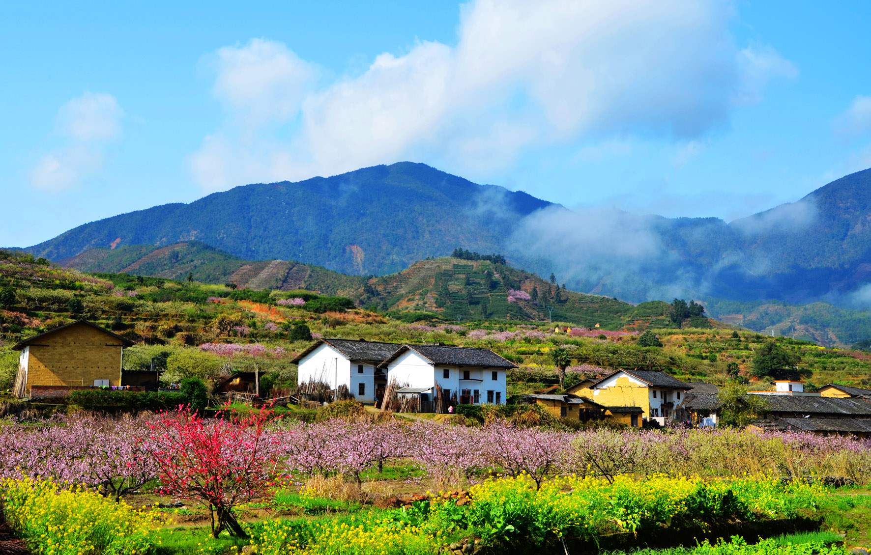
<path id="1" fill-rule="evenodd" d="M 572 392 L 604 406 L 605 414 L 618 422 L 640 426 L 645 419 L 659 425 L 672 420 L 675 405 L 679 405 L 681 395 L 690 390 L 691 384 L 663 371 L 618 370 Z"/>

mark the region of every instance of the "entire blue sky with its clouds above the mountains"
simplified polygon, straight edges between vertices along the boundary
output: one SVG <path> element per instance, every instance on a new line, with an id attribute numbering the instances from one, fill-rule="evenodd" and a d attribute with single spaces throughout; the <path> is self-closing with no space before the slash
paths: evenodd
<path id="1" fill-rule="evenodd" d="M 871 4 L 18 3 L 0 244 L 413 160 L 731 220 L 871 167 Z"/>

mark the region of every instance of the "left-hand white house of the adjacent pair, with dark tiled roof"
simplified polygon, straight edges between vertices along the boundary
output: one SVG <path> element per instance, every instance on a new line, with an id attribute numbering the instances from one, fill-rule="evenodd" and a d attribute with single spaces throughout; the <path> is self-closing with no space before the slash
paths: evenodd
<path id="1" fill-rule="evenodd" d="M 292 361 L 299 365 L 297 381 L 321 382 L 330 389 L 344 385 L 358 401 L 383 397 L 387 376 L 378 364 L 402 347 L 365 339 L 320 339 Z"/>

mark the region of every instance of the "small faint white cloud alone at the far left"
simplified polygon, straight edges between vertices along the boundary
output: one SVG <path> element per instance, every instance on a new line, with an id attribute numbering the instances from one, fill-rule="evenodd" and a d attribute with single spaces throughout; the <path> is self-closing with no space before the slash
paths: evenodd
<path id="1" fill-rule="evenodd" d="M 104 165 L 106 144 L 121 135 L 124 110 L 115 97 L 85 92 L 57 110 L 55 134 L 64 145 L 39 158 L 30 184 L 44 191 L 64 191 L 97 173 Z"/>

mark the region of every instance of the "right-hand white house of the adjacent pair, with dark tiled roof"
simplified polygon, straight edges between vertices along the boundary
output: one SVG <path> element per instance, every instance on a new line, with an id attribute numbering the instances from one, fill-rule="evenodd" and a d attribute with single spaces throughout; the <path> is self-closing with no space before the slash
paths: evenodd
<path id="1" fill-rule="evenodd" d="M 453 404 L 503 405 L 506 371 L 517 364 L 490 349 L 404 344 L 379 367 L 387 371 L 388 381 L 400 386 L 400 393 L 415 394 L 421 404 L 436 400 L 438 386 Z"/>

